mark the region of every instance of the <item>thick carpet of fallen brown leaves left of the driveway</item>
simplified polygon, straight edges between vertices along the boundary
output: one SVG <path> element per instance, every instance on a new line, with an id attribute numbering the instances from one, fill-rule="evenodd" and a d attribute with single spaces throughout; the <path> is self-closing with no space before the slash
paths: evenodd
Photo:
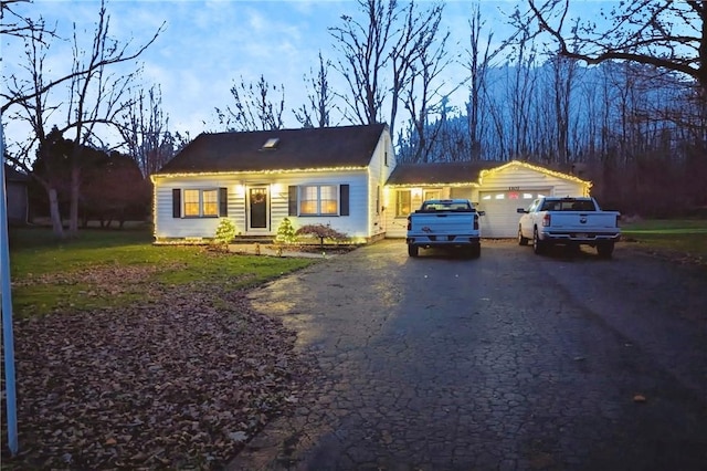
<path id="1" fill-rule="evenodd" d="M 105 289 L 120 276 L 94 275 Z M 150 293 L 127 308 L 15 321 L 20 452 L 6 458 L 3 414 L 3 468 L 220 469 L 295 407 L 312 363 L 244 292 Z"/>

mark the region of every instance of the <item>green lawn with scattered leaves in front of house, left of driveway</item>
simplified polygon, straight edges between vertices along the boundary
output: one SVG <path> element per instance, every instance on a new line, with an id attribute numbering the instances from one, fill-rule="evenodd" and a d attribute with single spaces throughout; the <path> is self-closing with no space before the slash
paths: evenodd
<path id="1" fill-rule="evenodd" d="M 207 247 L 152 245 L 149 228 L 82 230 L 57 241 L 48 229 L 12 229 L 15 316 L 149 302 L 165 290 L 238 290 L 302 269 L 312 259 L 235 255 Z"/>

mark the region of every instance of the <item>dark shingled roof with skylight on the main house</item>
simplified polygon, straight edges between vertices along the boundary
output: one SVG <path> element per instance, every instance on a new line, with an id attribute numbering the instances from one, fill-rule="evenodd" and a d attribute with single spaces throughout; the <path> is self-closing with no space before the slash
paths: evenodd
<path id="1" fill-rule="evenodd" d="M 384 124 L 201 134 L 159 174 L 295 170 L 366 167 Z M 273 149 L 268 140 L 278 139 Z"/>

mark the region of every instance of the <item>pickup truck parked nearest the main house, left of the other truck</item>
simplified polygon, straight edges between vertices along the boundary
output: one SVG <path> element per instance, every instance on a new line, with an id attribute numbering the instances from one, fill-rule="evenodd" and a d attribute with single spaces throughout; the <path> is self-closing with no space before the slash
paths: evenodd
<path id="1" fill-rule="evenodd" d="M 431 199 L 408 216 L 408 254 L 421 248 L 461 249 L 473 258 L 482 254 L 481 230 L 474 205 L 466 199 Z"/>

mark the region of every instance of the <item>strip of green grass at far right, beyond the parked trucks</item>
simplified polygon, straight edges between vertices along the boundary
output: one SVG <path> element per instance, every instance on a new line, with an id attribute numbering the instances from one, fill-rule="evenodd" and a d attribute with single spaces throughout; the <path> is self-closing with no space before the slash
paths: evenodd
<path id="1" fill-rule="evenodd" d="M 624 240 L 707 261 L 707 219 L 646 219 L 622 224 Z"/>

